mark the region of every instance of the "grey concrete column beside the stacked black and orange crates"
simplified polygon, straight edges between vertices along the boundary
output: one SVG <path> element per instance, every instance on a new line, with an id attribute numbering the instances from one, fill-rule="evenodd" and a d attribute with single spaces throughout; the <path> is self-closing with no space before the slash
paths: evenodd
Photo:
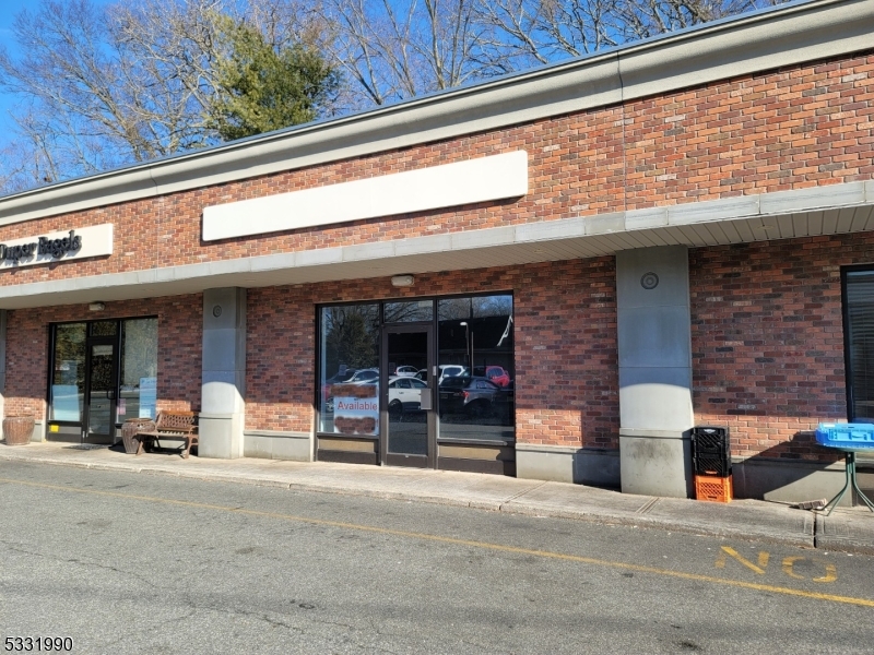
<path id="1" fill-rule="evenodd" d="M 616 307 L 622 490 L 688 498 L 694 414 L 687 248 L 617 253 Z"/>

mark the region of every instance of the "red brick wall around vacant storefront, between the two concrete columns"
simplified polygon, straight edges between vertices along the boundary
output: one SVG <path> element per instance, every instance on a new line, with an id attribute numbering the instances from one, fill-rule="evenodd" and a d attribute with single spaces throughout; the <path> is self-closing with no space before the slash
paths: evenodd
<path id="1" fill-rule="evenodd" d="M 617 448 L 613 258 L 249 289 L 246 427 L 310 431 L 316 303 L 513 291 L 517 439 Z"/>

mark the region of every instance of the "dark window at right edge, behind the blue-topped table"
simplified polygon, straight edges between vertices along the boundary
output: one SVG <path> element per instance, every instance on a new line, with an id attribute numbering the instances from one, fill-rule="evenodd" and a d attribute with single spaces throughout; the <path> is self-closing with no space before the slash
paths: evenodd
<path id="1" fill-rule="evenodd" d="M 874 271 L 847 273 L 850 420 L 874 422 Z"/>

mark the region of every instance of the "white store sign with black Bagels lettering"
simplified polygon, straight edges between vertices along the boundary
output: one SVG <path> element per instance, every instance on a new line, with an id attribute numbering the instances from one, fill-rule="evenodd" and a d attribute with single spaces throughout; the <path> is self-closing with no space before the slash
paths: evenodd
<path id="1" fill-rule="evenodd" d="M 0 243 L 0 270 L 113 254 L 113 225 L 95 225 Z"/>

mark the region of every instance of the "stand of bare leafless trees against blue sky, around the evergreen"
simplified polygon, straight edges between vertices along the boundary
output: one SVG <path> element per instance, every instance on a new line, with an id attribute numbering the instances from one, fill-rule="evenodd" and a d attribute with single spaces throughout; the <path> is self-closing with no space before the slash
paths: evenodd
<path id="1" fill-rule="evenodd" d="M 595 52 L 781 0 L 40 0 L 0 48 L 22 98 L 2 148 L 5 191 L 217 143 L 227 93 L 220 16 L 277 52 L 304 44 L 343 82 L 321 116 L 412 98 Z"/>

